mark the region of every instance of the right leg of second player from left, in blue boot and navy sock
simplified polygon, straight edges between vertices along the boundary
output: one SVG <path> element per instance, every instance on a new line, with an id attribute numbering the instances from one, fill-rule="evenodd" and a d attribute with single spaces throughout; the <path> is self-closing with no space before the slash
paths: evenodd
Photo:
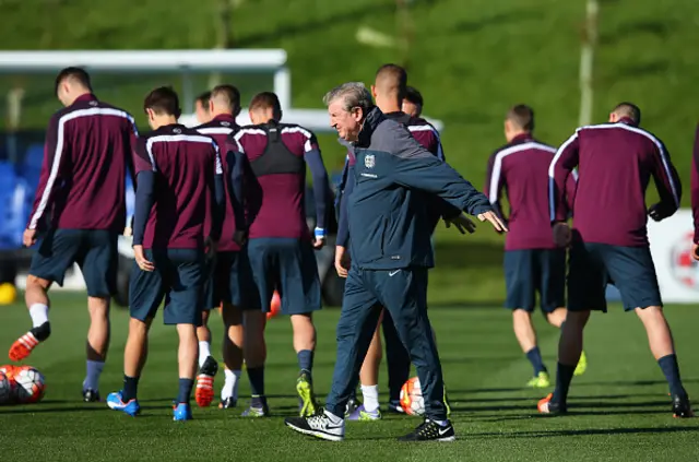
<path id="1" fill-rule="evenodd" d="M 179 347 L 177 353 L 179 387 L 174 406 L 175 420 L 192 418 L 189 405 L 198 369 L 199 341 L 197 328 L 201 325 L 202 291 L 206 280 L 204 253 L 196 249 L 169 249 L 169 260 L 175 266 L 169 294 L 165 299 L 163 320 L 177 325 Z"/>

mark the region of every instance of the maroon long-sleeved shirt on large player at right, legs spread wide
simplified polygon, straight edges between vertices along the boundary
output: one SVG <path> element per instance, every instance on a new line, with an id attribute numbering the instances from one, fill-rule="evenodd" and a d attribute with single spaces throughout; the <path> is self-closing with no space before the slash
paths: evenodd
<path id="1" fill-rule="evenodd" d="M 662 208 L 679 206 L 682 185 L 662 141 L 631 119 L 579 128 L 548 169 L 552 221 L 566 220 L 568 175 L 578 166 L 573 226 L 585 242 L 648 246 L 645 189 L 653 177 Z"/>

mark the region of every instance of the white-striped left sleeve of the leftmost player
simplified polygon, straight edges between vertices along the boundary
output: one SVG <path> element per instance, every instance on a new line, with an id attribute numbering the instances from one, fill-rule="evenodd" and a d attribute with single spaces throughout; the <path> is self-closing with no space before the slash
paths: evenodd
<path id="1" fill-rule="evenodd" d="M 60 143 L 59 143 L 59 140 Z M 60 117 L 54 115 L 46 131 L 46 143 L 44 145 L 44 162 L 39 183 L 36 188 L 36 197 L 32 213 L 29 214 L 28 229 L 36 229 L 43 224 L 46 211 L 51 209 L 55 192 L 60 187 L 59 178 L 62 175 L 61 167 L 66 162 L 68 143 L 64 140 L 64 126 L 60 123 Z"/>

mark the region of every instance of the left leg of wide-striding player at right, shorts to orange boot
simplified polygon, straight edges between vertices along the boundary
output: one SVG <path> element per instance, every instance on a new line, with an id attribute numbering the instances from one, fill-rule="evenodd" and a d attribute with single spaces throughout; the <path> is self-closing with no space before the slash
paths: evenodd
<path id="1" fill-rule="evenodd" d="M 568 391 L 582 354 L 582 333 L 590 311 L 606 311 L 606 269 L 595 245 L 573 241 L 568 274 L 568 311 L 558 341 L 556 388 L 538 402 L 545 414 L 567 411 Z"/>

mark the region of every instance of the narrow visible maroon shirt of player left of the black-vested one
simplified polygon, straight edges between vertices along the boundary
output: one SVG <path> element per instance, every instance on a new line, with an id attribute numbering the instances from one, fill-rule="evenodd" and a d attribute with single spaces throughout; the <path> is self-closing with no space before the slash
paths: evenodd
<path id="1" fill-rule="evenodd" d="M 226 154 L 226 142 L 228 137 L 238 131 L 240 127 L 236 123 L 235 117 L 228 114 L 220 115 L 214 117 L 210 122 L 203 123 L 196 128 L 196 130 L 208 137 L 211 137 L 216 142 L 218 146 L 218 153 L 221 156 L 225 156 Z M 223 170 L 225 178 L 227 179 L 230 176 L 228 170 L 228 164 L 226 162 L 223 163 Z M 223 221 L 223 228 L 221 232 L 221 240 L 218 241 L 218 251 L 220 252 L 230 252 L 240 250 L 240 246 L 238 246 L 233 240 L 233 235 L 236 232 L 236 221 L 233 212 L 233 204 L 230 203 L 230 185 L 229 181 L 224 181 L 226 189 L 226 209 L 225 216 Z M 209 198 L 208 198 L 209 199 Z M 206 206 L 206 211 L 210 211 L 210 205 Z M 211 228 L 211 214 L 206 213 L 206 222 L 204 224 L 204 228 L 209 230 Z"/>

